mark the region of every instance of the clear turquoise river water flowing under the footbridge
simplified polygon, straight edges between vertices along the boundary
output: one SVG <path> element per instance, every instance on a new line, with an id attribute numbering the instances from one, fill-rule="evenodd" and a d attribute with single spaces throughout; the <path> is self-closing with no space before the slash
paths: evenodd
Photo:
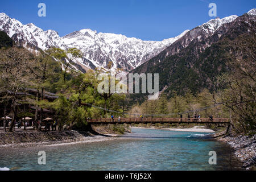
<path id="1" fill-rule="evenodd" d="M 205 138 L 205 133 L 154 129 L 132 131 L 132 134 L 113 141 L 10 151 L 0 156 L 0 167 L 15 167 L 17 170 L 94 171 L 240 169 L 241 164 L 230 156 L 230 147 Z M 46 165 L 38 164 L 40 150 L 46 152 Z M 217 165 L 208 163 L 209 151 L 217 152 Z"/>

